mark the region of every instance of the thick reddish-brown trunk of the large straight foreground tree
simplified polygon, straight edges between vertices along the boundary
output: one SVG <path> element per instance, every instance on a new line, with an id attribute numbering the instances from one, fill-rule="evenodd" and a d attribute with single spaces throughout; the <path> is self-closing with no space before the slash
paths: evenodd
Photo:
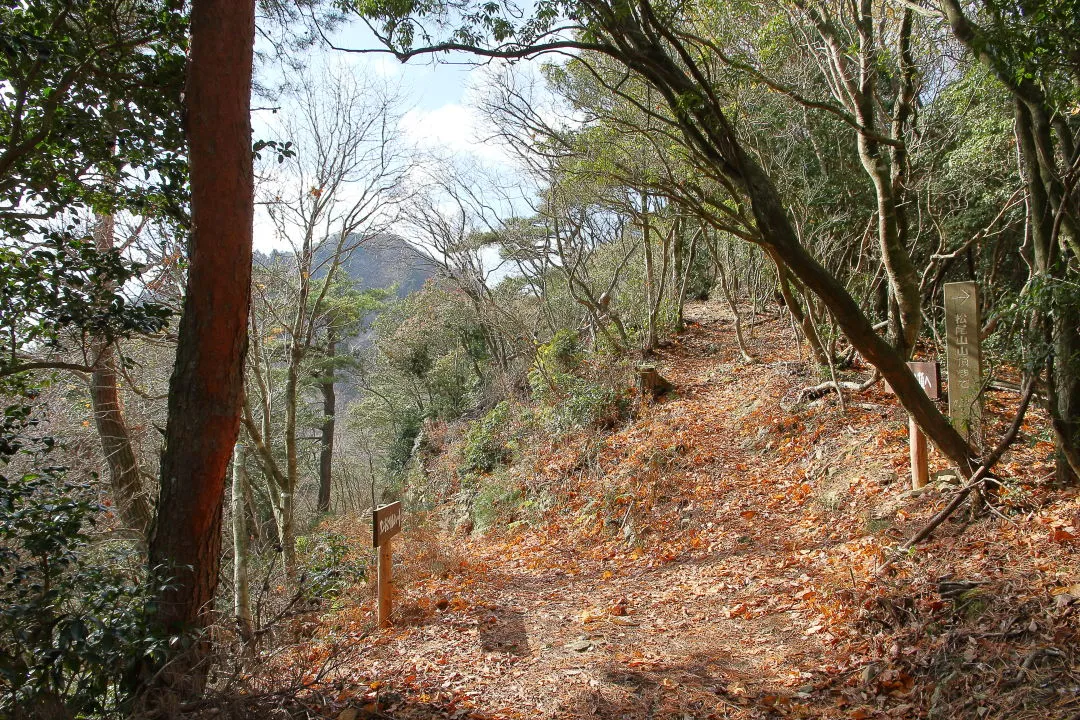
<path id="1" fill-rule="evenodd" d="M 254 0 L 192 0 L 185 89 L 191 239 L 150 568 L 168 579 L 153 604 L 171 647 L 158 690 L 203 690 L 221 563 L 221 510 L 243 397 L 251 304 L 251 87 Z"/>

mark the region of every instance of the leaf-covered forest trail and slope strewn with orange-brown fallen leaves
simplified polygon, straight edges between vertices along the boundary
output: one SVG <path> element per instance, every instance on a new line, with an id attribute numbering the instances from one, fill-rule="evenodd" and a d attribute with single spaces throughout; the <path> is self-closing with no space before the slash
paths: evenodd
<path id="1" fill-rule="evenodd" d="M 333 717 L 1075 717 L 1080 505 L 1039 485 L 1049 444 L 1004 461 L 1028 483 L 1013 517 L 948 522 L 877 578 L 947 497 L 905 492 L 894 398 L 784 411 L 812 380 L 785 323 L 758 318 L 745 364 L 718 304 L 688 320 L 658 362 L 671 397 L 538 456 L 537 481 L 577 489 L 543 524 L 402 535 L 400 617 L 336 661 Z M 1012 403 L 989 400 L 996 427 Z"/>

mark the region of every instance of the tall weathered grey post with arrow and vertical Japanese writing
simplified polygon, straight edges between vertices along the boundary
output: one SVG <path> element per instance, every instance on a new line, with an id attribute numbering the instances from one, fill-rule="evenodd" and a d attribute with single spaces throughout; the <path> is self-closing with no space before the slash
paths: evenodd
<path id="1" fill-rule="evenodd" d="M 945 284 L 945 349 L 948 370 L 948 416 L 966 439 L 978 439 L 982 420 L 983 354 L 978 342 L 978 286 Z"/>

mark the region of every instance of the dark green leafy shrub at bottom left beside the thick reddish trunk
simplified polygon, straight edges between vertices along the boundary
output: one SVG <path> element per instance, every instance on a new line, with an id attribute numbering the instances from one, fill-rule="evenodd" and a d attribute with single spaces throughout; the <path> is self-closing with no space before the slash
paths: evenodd
<path id="1" fill-rule="evenodd" d="M 125 544 L 91 546 L 102 515 L 89 484 L 49 465 L 25 407 L 4 410 L 0 467 L 0 717 L 117 717 L 124 677 L 163 656 L 151 593 Z"/>

